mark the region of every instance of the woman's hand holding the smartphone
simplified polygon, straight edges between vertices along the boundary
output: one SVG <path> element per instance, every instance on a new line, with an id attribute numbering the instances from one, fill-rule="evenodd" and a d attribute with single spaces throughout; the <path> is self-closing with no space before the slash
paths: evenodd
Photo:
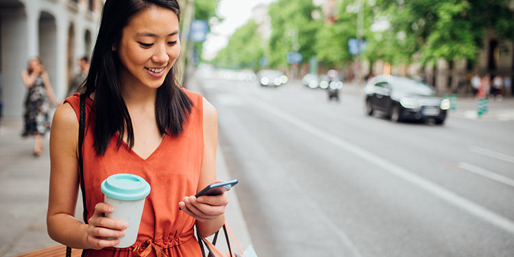
<path id="1" fill-rule="evenodd" d="M 221 195 L 189 196 L 178 204 L 179 208 L 197 221 L 206 222 L 225 213 L 228 204 L 227 192 Z"/>

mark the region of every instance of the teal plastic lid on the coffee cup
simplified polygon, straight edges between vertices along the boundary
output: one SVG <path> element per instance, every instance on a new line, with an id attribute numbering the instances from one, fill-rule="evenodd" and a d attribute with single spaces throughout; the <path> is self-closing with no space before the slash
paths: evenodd
<path id="1" fill-rule="evenodd" d="M 150 184 L 138 175 L 119 173 L 101 182 L 101 193 L 114 199 L 134 201 L 147 197 Z"/>

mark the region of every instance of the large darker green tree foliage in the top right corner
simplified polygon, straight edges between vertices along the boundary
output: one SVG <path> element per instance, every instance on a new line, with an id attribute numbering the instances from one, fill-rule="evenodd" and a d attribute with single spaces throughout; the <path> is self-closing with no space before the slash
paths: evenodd
<path id="1" fill-rule="evenodd" d="M 391 22 L 387 32 L 393 44 L 382 50 L 393 64 L 413 60 L 422 63 L 445 58 L 474 60 L 483 47 L 486 29 L 500 39 L 514 39 L 514 12 L 506 0 L 378 0 L 378 15 Z M 394 38 L 395 35 L 402 35 Z M 401 38 L 401 39 L 398 39 Z M 384 36 L 382 36 L 382 41 Z M 391 38 L 387 38 L 389 40 Z M 400 41 L 398 41 L 400 40 Z M 389 42 L 390 43 L 390 42 Z M 376 47 L 374 53 L 380 55 Z M 401 58 L 394 58 L 400 56 Z"/>

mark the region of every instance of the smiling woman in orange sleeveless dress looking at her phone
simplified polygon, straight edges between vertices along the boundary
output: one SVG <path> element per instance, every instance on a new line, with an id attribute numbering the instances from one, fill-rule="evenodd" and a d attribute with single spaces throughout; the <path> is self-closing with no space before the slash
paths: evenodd
<path id="1" fill-rule="evenodd" d="M 79 184 L 79 94 L 56 111 L 50 137 L 48 232 L 86 256 L 201 256 L 193 234 L 225 222 L 226 193 L 193 195 L 216 181 L 217 112 L 180 88 L 173 64 L 180 53 L 176 0 L 107 0 L 84 92 L 83 145 L 88 224 L 75 219 Z M 151 185 L 136 243 L 114 248 L 127 224 L 103 217 L 100 184 L 133 173 Z M 146 250 L 146 251 L 145 251 Z"/>

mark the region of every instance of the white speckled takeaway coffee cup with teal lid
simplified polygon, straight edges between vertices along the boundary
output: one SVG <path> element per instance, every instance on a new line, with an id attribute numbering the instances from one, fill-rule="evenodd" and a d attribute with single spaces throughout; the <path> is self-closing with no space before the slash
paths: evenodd
<path id="1" fill-rule="evenodd" d="M 106 217 L 128 223 L 125 236 L 119 238 L 120 243 L 114 247 L 124 248 L 133 245 L 138 236 L 145 197 L 150 193 L 150 185 L 138 175 L 120 173 L 103 180 L 101 192 L 105 195 L 105 203 L 114 207 L 114 211 L 106 213 Z"/>

